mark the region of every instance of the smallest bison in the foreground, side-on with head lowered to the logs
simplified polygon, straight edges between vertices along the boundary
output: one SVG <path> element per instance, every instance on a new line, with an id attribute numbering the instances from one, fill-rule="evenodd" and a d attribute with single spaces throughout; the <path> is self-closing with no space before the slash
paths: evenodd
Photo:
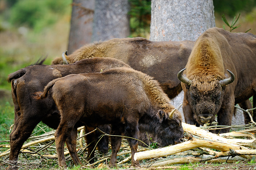
<path id="1" fill-rule="evenodd" d="M 112 135 L 124 133 L 133 137 L 127 138 L 133 166 L 139 166 L 138 160 L 134 160 L 138 147 L 138 141 L 134 138 L 137 138 L 139 124 L 154 127 L 153 133 L 164 137 L 169 145 L 183 141 L 181 113 L 174 110 L 158 81 L 142 72 L 122 67 L 102 73 L 72 74 L 51 81 L 44 92 L 37 92 L 34 98 L 46 98 L 51 88 L 50 94 L 61 115 L 55 132 L 60 167 L 66 168 L 63 151 L 65 141 L 72 144 L 68 145 L 68 149 L 74 163 L 81 164 L 75 150 L 77 122 L 92 127 L 111 124 Z M 110 165 L 116 166 L 121 137 L 110 138 Z"/>

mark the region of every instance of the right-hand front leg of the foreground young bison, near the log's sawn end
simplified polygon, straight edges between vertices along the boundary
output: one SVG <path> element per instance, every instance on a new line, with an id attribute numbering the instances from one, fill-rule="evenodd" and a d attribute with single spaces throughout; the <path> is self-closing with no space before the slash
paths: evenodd
<path id="1" fill-rule="evenodd" d="M 125 136 L 132 137 L 132 138 L 127 138 L 130 149 L 131 149 L 131 154 L 132 154 L 132 166 L 134 167 L 140 167 L 139 160 L 134 160 L 134 154 L 137 152 L 138 148 L 138 123 L 133 122 L 133 123 L 127 123 L 126 128 L 125 128 Z M 134 138 L 134 139 L 133 139 Z"/>

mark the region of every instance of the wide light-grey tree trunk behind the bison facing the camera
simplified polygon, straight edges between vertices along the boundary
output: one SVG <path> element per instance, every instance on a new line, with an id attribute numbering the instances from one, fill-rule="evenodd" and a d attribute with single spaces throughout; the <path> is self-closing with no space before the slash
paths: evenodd
<path id="1" fill-rule="evenodd" d="M 213 0 L 152 0 L 151 41 L 195 41 L 215 27 Z"/>

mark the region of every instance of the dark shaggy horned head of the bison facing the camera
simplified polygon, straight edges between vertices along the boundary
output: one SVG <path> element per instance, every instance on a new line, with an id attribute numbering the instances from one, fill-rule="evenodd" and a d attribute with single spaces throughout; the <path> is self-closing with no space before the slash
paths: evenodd
<path id="1" fill-rule="evenodd" d="M 202 79 L 192 81 L 182 75 L 184 70 L 182 69 L 177 76 L 181 82 L 186 84 L 187 90 L 184 90 L 184 93 L 194 113 L 194 120 L 200 125 L 211 123 L 215 119 L 215 114 L 219 112 L 222 106 L 223 90 L 226 85 L 234 81 L 234 74 L 227 70 L 231 75 L 230 78 L 216 80 L 214 82 L 204 81 Z M 202 90 L 204 89 L 203 86 L 210 88 Z"/>

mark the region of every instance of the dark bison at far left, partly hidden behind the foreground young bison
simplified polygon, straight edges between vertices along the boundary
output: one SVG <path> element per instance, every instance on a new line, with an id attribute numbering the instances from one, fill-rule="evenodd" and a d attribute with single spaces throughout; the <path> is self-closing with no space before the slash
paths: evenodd
<path id="1" fill-rule="evenodd" d="M 14 164 L 23 143 L 40 121 L 53 129 L 57 129 L 59 125 L 60 115 L 53 99 L 48 97 L 46 100 L 36 101 L 32 99 L 32 93 L 43 91 L 44 86 L 53 79 L 69 74 L 101 72 L 101 70 L 113 67 L 129 67 L 114 58 L 95 57 L 81 60 L 74 64 L 52 66 L 43 65 L 43 61 L 38 62 L 38 65 L 28 66 L 11 73 L 8 77 L 8 81 L 11 81 L 12 99 L 15 108 L 14 128 L 10 134 L 9 159 Z M 107 128 L 104 129 L 107 130 Z M 94 137 L 95 135 L 89 135 L 87 143 L 91 143 Z M 100 148 L 98 149 L 103 153 L 108 152 L 108 138 L 101 141 L 102 143 L 99 143 L 98 147 Z M 94 155 L 93 148 L 94 146 L 88 148 L 88 152 L 92 152 L 91 155 Z"/>

